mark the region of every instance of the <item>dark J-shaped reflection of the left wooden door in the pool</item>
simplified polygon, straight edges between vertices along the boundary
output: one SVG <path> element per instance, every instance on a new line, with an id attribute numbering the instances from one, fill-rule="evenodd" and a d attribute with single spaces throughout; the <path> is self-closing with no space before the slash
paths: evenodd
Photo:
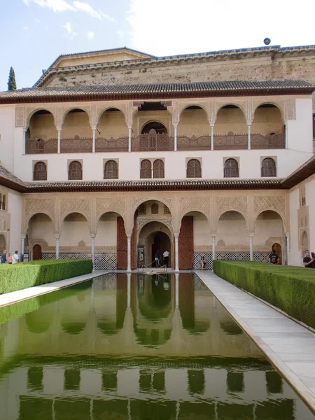
<path id="1" fill-rule="evenodd" d="M 116 314 L 102 319 L 97 316 L 97 328 L 106 335 L 117 334 L 124 325 L 127 309 L 127 274 L 117 274 Z"/>

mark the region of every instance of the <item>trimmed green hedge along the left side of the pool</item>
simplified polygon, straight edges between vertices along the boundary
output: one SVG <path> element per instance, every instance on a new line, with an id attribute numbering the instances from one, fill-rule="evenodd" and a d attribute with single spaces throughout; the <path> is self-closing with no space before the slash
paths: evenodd
<path id="1" fill-rule="evenodd" d="M 0 264 L 0 294 L 92 272 L 92 260 L 48 260 Z"/>

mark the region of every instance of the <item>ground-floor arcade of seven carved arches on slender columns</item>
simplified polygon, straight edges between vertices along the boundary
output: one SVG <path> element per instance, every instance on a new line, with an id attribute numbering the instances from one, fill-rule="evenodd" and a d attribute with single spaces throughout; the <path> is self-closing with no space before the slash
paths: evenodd
<path id="1" fill-rule="evenodd" d="M 279 191 L 25 195 L 22 246 L 30 258 L 92 258 L 96 269 L 211 269 L 212 260 L 287 262 L 287 204 Z M 303 246 L 304 246 L 303 241 Z M 164 262 L 160 259 L 160 265 Z"/>

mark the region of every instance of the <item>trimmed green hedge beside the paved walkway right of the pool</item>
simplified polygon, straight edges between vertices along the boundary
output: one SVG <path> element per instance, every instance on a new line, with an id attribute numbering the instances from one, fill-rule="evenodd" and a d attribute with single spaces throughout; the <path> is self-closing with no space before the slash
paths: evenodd
<path id="1" fill-rule="evenodd" d="M 315 328 L 315 269 L 214 260 L 214 272 Z"/>

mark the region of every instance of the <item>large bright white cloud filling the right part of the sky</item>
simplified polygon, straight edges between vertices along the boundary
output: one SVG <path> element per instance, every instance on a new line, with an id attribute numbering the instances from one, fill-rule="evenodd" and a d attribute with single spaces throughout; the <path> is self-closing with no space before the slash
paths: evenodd
<path id="1" fill-rule="evenodd" d="M 287 0 L 159 0 L 157 6 L 152 0 L 130 0 L 130 46 L 173 55 L 264 46 L 266 37 L 272 45 L 314 43 L 315 2 L 300 0 L 298 9 L 287 5 Z M 153 24 L 160 28 L 158 36 Z"/>

